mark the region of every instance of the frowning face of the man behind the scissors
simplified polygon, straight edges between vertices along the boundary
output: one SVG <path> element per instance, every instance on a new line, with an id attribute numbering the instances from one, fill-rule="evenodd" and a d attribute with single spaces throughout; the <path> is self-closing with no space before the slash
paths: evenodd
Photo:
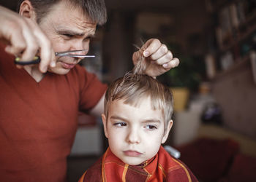
<path id="1" fill-rule="evenodd" d="M 55 52 L 68 50 L 86 50 L 75 54 L 87 54 L 90 38 L 94 36 L 96 23 L 88 16 L 65 1 L 54 5 L 48 15 L 42 18 L 40 28 L 50 39 Z M 80 62 L 80 58 L 56 57 L 56 67 L 48 68 L 55 74 L 67 74 L 71 68 Z"/>

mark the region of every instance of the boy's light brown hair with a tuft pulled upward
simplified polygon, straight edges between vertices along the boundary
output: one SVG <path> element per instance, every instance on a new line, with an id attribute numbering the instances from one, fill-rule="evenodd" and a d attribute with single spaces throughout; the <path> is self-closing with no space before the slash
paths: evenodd
<path id="1" fill-rule="evenodd" d="M 170 89 L 151 76 L 143 74 L 146 63 L 141 60 L 132 71 L 124 77 L 116 79 L 108 87 L 104 101 L 104 114 L 108 118 L 108 108 L 114 100 L 124 100 L 124 103 L 137 106 L 140 101 L 150 97 L 151 108 L 162 110 L 165 116 L 165 127 L 173 114 L 173 95 Z"/>

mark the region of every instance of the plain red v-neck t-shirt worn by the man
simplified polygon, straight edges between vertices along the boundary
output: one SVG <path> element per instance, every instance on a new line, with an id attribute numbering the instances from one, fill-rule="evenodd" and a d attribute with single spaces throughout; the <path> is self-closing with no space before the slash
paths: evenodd
<path id="1" fill-rule="evenodd" d="M 80 66 L 37 83 L 0 45 L 0 181 L 66 181 L 78 111 L 106 90 Z"/>

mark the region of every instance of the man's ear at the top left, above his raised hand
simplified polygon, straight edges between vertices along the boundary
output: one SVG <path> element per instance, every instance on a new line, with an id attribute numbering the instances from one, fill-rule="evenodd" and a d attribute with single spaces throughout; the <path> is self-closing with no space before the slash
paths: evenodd
<path id="1" fill-rule="evenodd" d="M 29 0 L 25 0 L 20 4 L 20 12 L 19 14 L 23 17 L 31 18 L 32 20 L 37 20 L 36 12 L 34 11 L 34 7 Z"/>

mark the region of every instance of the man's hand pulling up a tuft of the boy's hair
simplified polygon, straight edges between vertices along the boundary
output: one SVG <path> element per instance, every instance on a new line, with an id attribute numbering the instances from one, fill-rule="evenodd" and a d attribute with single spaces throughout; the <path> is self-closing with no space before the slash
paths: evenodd
<path id="1" fill-rule="evenodd" d="M 178 58 L 173 58 L 172 52 L 158 39 L 149 39 L 140 50 L 133 53 L 132 60 L 137 64 L 141 57 L 146 58 L 148 76 L 157 77 L 178 66 Z"/>

